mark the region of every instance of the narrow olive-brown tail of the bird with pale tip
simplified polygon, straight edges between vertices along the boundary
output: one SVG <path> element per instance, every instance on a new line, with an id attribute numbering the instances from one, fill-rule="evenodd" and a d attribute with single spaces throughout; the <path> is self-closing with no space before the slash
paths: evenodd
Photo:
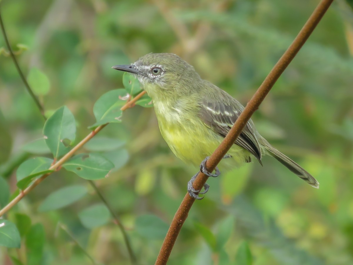
<path id="1" fill-rule="evenodd" d="M 303 167 L 299 166 L 292 159 L 282 154 L 276 148 L 271 146 L 265 139 L 261 139 L 262 145 L 265 150 L 274 158 L 276 158 L 282 165 L 287 167 L 290 171 L 292 171 L 295 175 L 303 179 L 306 183 L 310 184 L 314 188 L 319 188 L 319 182 L 310 175 Z"/>

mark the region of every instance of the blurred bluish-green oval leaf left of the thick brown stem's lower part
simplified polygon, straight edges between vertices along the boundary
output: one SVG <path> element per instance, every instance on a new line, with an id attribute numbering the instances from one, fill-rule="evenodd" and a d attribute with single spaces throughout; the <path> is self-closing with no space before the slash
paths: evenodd
<path id="1" fill-rule="evenodd" d="M 167 223 L 152 214 L 141 215 L 136 219 L 136 232 L 146 239 L 163 239 L 168 228 Z"/>

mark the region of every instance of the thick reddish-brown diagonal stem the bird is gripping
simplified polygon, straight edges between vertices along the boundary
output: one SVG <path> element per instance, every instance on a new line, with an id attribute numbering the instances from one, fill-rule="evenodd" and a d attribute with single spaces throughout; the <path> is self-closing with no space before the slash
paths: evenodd
<path id="1" fill-rule="evenodd" d="M 291 63 L 300 48 L 304 45 L 305 41 L 315 29 L 332 2 L 333 0 L 322 0 L 318 4 L 310 18 L 305 23 L 304 27 L 300 30 L 299 34 L 292 42 L 291 46 L 289 46 L 287 51 L 282 55 L 282 57 L 273 67 L 249 103 L 246 105 L 244 111 L 240 114 L 239 118 L 236 120 L 225 139 L 207 161 L 206 167 L 210 172 L 215 169 L 216 165 L 231 148 L 237 137 L 240 135 L 241 130 L 243 130 L 247 121 L 250 119 L 251 115 L 258 109 L 259 105 L 264 100 L 265 96 L 269 93 L 277 79 L 281 76 L 289 63 Z M 194 188 L 201 189 L 204 183 L 206 183 L 207 178 L 208 177 L 205 174 L 200 172 L 193 183 Z M 169 230 L 166 237 L 164 238 L 163 245 L 155 264 L 167 264 L 174 243 L 177 240 L 181 227 L 183 226 L 194 201 L 195 199 L 191 198 L 189 193 L 185 195 L 178 211 L 175 213 L 172 223 L 170 224 Z"/>

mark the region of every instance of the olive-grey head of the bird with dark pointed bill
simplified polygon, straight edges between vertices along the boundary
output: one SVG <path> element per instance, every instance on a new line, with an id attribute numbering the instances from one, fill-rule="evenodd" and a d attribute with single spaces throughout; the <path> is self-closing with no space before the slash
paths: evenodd
<path id="1" fill-rule="evenodd" d="M 192 65 L 172 53 L 149 53 L 130 65 L 112 68 L 136 75 L 152 99 L 188 93 L 200 80 Z"/>

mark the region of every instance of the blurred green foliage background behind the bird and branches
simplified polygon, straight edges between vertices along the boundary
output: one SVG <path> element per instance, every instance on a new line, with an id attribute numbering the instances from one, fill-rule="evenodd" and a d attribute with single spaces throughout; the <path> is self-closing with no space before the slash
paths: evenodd
<path id="1" fill-rule="evenodd" d="M 66 105 L 76 118 L 79 142 L 95 122 L 94 102 L 123 87 L 122 73 L 111 67 L 150 52 L 178 54 L 245 105 L 318 2 L 2 0 L 0 11 L 25 75 L 36 67 L 48 77 L 50 90 L 39 93 L 46 113 Z M 242 259 L 256 265 L 353 264 L 349 4 L 334 2 L 253 116 L 257 130 L 315 176 L 320 189 L 271 157 L 263 159 L 263 167 L 254 161 L 210 178 L 211 188 L 193 205 L 168 264 L 241 264 Z M 0 47 L 6 47 L 2 36 Z M 18 165 L 32 153 L 45 153 L 24 148 L 42 137 L 44 119 L 6 48 L 0 53 L 0 175 L 12 193 Z M 197 169 L 169 150 L 153 108 L 128 109 L 122 123 L 109 124 L 99 136 L 121 145 L 107 151 L 117 170 L 96 184 L 127 229 L 138 264 L 154 264 Z M 72 184 L 86 185 L 89 193 L 65 208 L 38 211 L 49 194 Z M 80 222 L 77 213 L 97 203 L 84 179 L 60 170 L 8 218 L 24 214 L 43 227 L 37 264 L 91 263 L 59 223 L 98 264 L 129 264 L 115 224 L 87 228 Z M 11 264 L 8 255 L 23 261 L 26 249 L 0 247 L 1 264 Z"/>

